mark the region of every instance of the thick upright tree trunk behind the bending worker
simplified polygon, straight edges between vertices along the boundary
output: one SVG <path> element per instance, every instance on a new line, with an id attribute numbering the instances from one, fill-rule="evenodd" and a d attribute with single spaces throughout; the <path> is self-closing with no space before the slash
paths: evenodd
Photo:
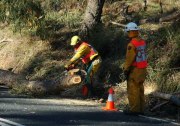
<path id="1" fill-rule="evenodd" d="M 88 36 L 98 23 L 101 22 L 102 8 L 105 0 L 89 0 L 82 24 L 81 35 Z"/>

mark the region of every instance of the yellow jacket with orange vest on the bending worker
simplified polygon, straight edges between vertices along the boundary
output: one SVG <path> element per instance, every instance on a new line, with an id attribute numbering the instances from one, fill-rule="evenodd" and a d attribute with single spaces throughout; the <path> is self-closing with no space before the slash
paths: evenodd
<path id="1" fill-rule="evenodd" d="M 75 55 L 70 59 L 70 62 L 74 63 L 82 58 L 82 62 L 87 64 L 97 55 L 98 52 L 91 45 L 83 42 L 78 48 L 75 48 Z"/>

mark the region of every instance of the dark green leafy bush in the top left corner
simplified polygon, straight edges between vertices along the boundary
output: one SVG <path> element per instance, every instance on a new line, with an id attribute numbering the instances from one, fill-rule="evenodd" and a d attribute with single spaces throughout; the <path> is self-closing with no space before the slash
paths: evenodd
<path id="1" fill-rule="evenodd" d="M 16 30 L 39 26 L 44 11 L 39 0 L 1 0 L 0 20 L 15 24 Z"/>

